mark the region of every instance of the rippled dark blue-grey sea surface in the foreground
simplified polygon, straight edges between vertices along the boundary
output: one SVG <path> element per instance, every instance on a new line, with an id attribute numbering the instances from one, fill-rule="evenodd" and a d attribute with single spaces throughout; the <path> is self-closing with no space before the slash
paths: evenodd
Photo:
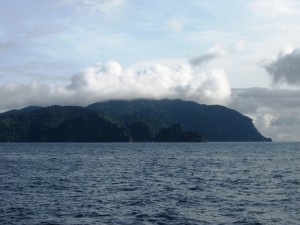
<path id="1" fill-rule="evenodd" d="M 300 224 L 300 143 L 0 144 L 0 224 Z"/>

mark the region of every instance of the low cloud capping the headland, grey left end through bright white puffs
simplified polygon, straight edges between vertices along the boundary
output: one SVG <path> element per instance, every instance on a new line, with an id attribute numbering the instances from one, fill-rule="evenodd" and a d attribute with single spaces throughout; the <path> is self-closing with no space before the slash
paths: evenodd
<path id="1" fill-rule="evenodd" d="M 205 57 L 204 57 L 205 58 Z M 197 64 L 123 68 L 116 61 L 98 63 L 75 74 L 67 85 L 34 81 L 0 87 L 1 111 L 28 105 L 87 105 L 96 101 L 137 98 L 181 98 L 207 104 L 225 104 L 230 85 L 220 69 L 204 71 Z"/>

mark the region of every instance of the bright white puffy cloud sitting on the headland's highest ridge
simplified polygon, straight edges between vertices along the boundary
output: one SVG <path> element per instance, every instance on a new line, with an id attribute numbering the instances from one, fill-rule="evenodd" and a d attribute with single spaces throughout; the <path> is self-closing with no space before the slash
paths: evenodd
<path id="1" fill-rule="evenodd" d="M 86 101 L 134 98 L 182 98 L 201 103 L 224 103 L 230 96 L 221 70 L 200 71 L 189 64 L 153 65 L 134 71 L 110 61 L 73 76 L 70 90 L 85 93 Z"/>

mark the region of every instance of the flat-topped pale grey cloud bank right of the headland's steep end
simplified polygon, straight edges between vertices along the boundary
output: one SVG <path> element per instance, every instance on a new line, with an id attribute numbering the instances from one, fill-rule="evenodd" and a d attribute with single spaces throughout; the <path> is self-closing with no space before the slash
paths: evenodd
<path id="1" fill-rule="evenodd" d="M 232 89 L 228 105 L 250 116 L 257 129 L 276 141 L 298 141 L 300 90 Z"/>

